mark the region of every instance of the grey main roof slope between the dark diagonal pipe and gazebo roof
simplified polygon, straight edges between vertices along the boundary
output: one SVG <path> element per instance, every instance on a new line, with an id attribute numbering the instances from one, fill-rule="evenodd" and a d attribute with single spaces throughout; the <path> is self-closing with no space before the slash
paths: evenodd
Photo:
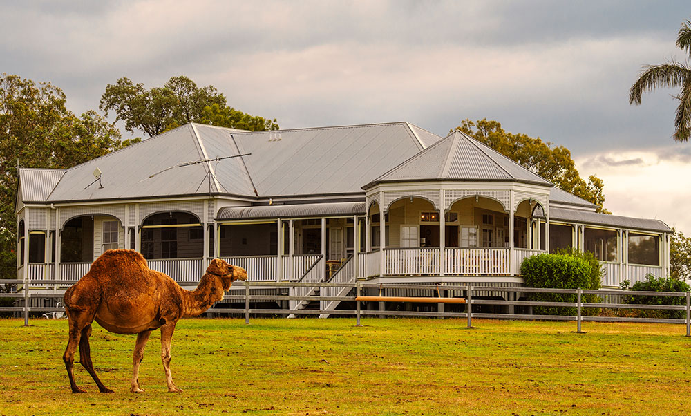
<path id="1" fill-rule="evenodd" d="M 259 195 L 361 193 L 422 146 L 405 122 L 233 135 Z"/>

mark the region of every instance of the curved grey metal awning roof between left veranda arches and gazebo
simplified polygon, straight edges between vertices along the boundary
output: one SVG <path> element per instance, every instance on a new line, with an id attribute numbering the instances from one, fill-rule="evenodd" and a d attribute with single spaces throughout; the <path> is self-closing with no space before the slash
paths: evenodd
<path id="1" fill-rule="evenodd" d="M 365 202 L 324 202 L 319 204 L 226 207 L 216 220 L 353 216 L 365 214 Z"/>

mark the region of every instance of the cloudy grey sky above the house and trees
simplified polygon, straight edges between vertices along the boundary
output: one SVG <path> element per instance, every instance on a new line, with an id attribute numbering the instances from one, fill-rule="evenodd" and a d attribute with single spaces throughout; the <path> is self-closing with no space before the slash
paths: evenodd
<path id="1" fill-rule="evenodd" d="M 687 1 L 4 1 L 0 72 L 97 108 L 108 83 L 187 75 L 281 128 L 460 120 L 566 146 L 614 214 L 691 234 L 691 144 L 672 90 L 628 104 L 674 46 Z"/>

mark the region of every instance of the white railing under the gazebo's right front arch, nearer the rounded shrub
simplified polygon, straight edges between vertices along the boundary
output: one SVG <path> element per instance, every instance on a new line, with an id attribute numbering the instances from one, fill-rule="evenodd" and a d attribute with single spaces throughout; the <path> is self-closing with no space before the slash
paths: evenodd
<path id="1" fill-rule="evenodd" d="M 509 274 L 509 249 L 447 248 L 446 274 L 465 276 Z"/>

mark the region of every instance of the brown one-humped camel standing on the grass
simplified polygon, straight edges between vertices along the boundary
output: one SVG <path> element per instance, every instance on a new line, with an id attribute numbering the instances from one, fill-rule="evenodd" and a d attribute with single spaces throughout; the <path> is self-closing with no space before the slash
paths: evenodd
<path id="1" fill-rule="evenodd" d="M 70 337 L 63 359 L 73 393 L 84 393 L 73 375 L 75 350 L 79 363 L 93 377 L 101 393 L 113 393 L 103 385 L 91 363 L 88 337 L 91 323 L 116 334 L 137 334 L 134 371 L 130 391 L 141 393 L 139 366 L 151 331 L 161 328 L 161 359 L 169 392 L 180 392 L 171 377 L 171 339 L 180 318 L 197 316 L 223 299 L 223 292 L 236 280 L 246 280 L 242 267 L 214 258 L 196 290 L 184 290 L 166 274 L 149 269 L 134 250 L 108 250 L 96 259 L 91 270 L 65 292 L 65 310 Z"/>

